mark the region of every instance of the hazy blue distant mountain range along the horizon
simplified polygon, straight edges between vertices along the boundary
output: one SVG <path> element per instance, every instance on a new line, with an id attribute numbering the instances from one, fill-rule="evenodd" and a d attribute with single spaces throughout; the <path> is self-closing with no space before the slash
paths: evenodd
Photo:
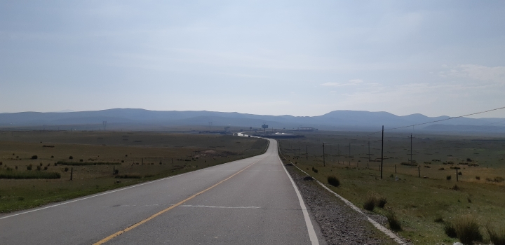
<path id="1" fill-rule="evenodd" d="M 47 127 L 63 125 L 107 125 L 112 128 L 168 127 L 168 126 L 231 126 L 297 129 L 316 127 L 319 130 L 378 130 L 404 127 L 419 123 L 444 120 L 448 116 L 428 117 L 422 114 L 396 116 L 384 111 L 332 111 L 322 116 L 268 116 L 216 111 L 148 111 L 144 109 L 109 109 L 78 112 L 22 112 L 0 113 L 0 127 Z M 426 131 L 489 131 L 505 132 L 505 118 L 454 118 L 438 123 L 417 126 Z"/>

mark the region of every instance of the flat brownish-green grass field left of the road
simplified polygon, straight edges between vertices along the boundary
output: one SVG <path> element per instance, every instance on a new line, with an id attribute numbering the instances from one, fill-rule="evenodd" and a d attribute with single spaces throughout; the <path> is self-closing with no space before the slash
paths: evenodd
<path id="1" fill-rule="evenodd" d="M 266 146 L 264 139 L 218 134 L 4 132 L 0 133 L 0 176 L 54 173 L 60 179 L 0 179 L 0 212 L 248 158 Z"/>

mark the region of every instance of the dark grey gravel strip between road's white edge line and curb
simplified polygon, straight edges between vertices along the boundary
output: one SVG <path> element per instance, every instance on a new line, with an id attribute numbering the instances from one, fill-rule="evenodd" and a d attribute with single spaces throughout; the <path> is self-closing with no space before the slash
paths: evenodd
<path id="1" fill-rule="evenodd" d="M 304 180 L 306 175 L 299 169 L 292 165 L 285 167 L 297 184 L 327 244 L 396 244 L 370 224 L 365 216 L 328 193 L 316 181 Z"/>

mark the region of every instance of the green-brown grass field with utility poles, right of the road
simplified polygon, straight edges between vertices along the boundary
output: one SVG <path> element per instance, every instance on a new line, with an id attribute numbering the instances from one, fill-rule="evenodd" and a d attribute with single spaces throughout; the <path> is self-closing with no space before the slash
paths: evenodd
<path id="1" fill-rule="evenodd" d="M 465 215 L 477 218 L 485 239 L 485 224 L 503 224 L 504 139 L 414 135 L 413 160 L 417 166 L 410 166 L 401 165 L 410 162 L 410 134 L 386 134 L 386 160 L 383 179 L 380 179 L 380 162 L 377 161 L 380 159 L 380 134 L 365 135 L 356 132 L 307 133 L 302 139 L 281 140 L 281 152 L 323 183 L 328 183 L 328 176 L 336 176 L 340 186 L 330 188 L 358 207 L 363 208 L 370 195 L 386 197 L 385 208 L 376 207 L 374 212 L 385 215 L 388 209 L 395 211 L 403 228 L 400 235 L 414 244 L 457 241 L 445 235 L 444 222 Z M 368 162 L 369 140 L 373 162 Z M 306 146 L 310 146 L 308 160 Z M 313 167 L 317 172 L 312 170 Z M 458 171 L 462 173 L 458 181 L 455 167 L 459 167 Z M 447 180 L 447 176 L 451 179 Z"/>

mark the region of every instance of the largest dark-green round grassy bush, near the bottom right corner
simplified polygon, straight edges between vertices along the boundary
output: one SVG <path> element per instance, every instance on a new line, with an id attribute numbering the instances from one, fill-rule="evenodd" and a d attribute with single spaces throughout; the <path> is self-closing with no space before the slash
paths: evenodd
<path id="1" fill-rule="evenodd" d="M 473 216 L 461 216 L 454 221 L 456 236 L 463 244 L 473 244 L 473 241 L 482 241 L 479 224 Z"/>

